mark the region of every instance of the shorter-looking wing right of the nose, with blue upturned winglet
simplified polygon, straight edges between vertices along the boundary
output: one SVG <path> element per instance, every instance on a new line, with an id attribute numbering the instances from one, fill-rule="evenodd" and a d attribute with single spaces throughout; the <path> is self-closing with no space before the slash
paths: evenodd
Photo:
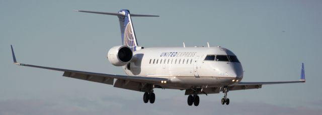
<path id="1" fill-rule="evenodd" d="M 302 63 L 301 68 L 301 77 L 298 81 L 274 81 L 274 82 L 239 82 L 237 84 L 233 84 L 229 86 L 229 90 L 243 90 L 243 89 L 254 89 L 254 88 L 262 88 L 262 85 L 268 84 L 283 84 L 283 83 L 300 83 L 305 82 L 305 72 L 304 72 L 304 64 Z"/>

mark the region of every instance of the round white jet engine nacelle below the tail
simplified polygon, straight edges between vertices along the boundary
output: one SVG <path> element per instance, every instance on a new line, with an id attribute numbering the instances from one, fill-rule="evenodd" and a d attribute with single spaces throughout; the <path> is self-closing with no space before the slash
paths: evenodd
<path id="1" fill-rule="evenodd" d="M 115 66 L 123 66 L 131 62 L 133 52 L 128 46 L 114 46 L 107 53 L 107 59 Z"/>

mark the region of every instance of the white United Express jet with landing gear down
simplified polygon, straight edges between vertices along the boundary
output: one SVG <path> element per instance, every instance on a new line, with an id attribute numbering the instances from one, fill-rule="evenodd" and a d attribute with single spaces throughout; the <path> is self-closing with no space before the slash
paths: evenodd
<path id="1" fill-rule="evenodd" d="M 62 76 L 94 81 L 144 92 L 143 102 L 154 103 L 154 88 L 185 90 L 188 105 L 199 105 L 200 94 L 224 93 L 221 104 L 229 104 L 227 92 L 232 90 L 258 89 L 266 84 L 305 82 L 304 64 L 300 80 L 275 82 L 241 82 L 244 70 L 236 55 L 217 46 L 210 47 L 154 47 L 138 46 L 132 17 L 159 17 L 154 15 L 130 14 L 129 10 L 118 13 L 76 11 L 117 16 L 121 28 L 122 45 L 112 47 L 108 61 L 121 67 L 126 75 L 95 73 L 43 67 L 18 63 L 11 45 L 14 64 L 64 72 Z M 114 80 L 116 80 L 114 82 Z"/>

